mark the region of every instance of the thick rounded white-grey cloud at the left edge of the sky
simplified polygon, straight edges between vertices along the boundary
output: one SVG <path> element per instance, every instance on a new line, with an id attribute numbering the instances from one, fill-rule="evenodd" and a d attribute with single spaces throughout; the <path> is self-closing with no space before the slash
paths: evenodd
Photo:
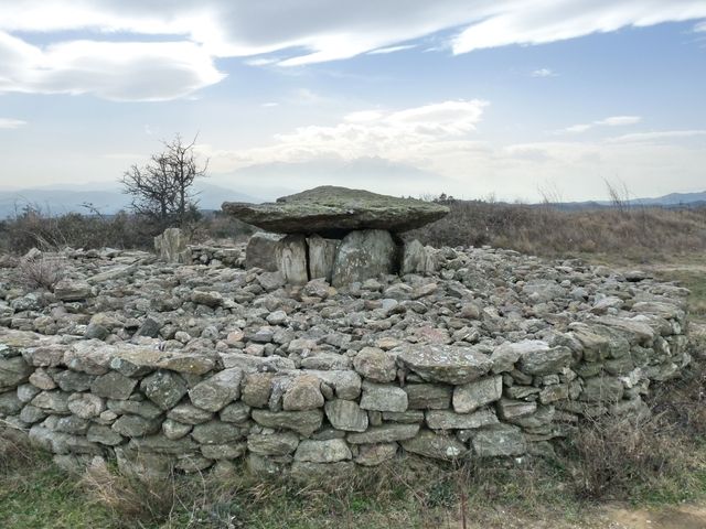
<path id="1" fill-rule="evenodd" d="M 42 50 L 0 32 L 0 94 L 154 101 L 186 96 L 223 77 L 190 42 L 71 41 Z"/>

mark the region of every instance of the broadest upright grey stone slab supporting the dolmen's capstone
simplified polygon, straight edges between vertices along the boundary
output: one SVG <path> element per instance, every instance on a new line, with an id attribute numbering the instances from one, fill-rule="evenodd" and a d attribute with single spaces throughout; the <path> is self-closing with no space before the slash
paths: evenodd
<path id="1" fill-rule="evenodd" d="M 389 231 L 365 229 L 351 231 L 335 253 L 333 287 L 393 273 L 397 247 Z"/>

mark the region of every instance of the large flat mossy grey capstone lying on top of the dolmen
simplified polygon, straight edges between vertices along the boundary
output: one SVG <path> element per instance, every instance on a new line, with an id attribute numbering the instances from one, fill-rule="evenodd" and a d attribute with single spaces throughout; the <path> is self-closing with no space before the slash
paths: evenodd
<path id="1" fill-rule="evenodd" d="M 449 213 L 447 206 L 434 202 L 332 185 L 282 196 L 270 204 L 225 202 L 223 210 L 268 231 L 324 236 L 354 229 L 408 231 Z"/>

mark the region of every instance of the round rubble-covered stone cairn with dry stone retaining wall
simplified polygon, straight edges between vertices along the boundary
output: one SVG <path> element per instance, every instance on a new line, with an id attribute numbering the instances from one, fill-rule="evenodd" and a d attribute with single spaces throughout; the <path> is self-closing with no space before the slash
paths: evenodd
<path id="1" fill-rule="evenodd" d="M 222 262 L 67 256 L 0 270 L 0 420 L 81 468 L 320 475 L 406 453 L 546 454 L 586 415 L 649 413 L 689 356 L 687 292 L 490 248 L 342 289 Z M 100 278 L 96 281 L 95 278 Z"/>

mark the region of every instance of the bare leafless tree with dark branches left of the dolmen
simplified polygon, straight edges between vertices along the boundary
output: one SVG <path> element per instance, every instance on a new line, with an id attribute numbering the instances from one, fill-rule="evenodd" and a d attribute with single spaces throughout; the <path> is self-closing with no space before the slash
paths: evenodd
<path id="1" fill-rule="evenodd" d="M 205 176 L 208 161 L 200 165 L 194 154 L 196 138 L 183 143 L 181 136 L 162 142 L 164 151 L 152 154 L 143 168 L 132 165 L 120 183 L 132 197 L 130 207 L 160 229 L 184 226 L 197 216 L 199 201 L 192 191 L 194 180 Z"/>

